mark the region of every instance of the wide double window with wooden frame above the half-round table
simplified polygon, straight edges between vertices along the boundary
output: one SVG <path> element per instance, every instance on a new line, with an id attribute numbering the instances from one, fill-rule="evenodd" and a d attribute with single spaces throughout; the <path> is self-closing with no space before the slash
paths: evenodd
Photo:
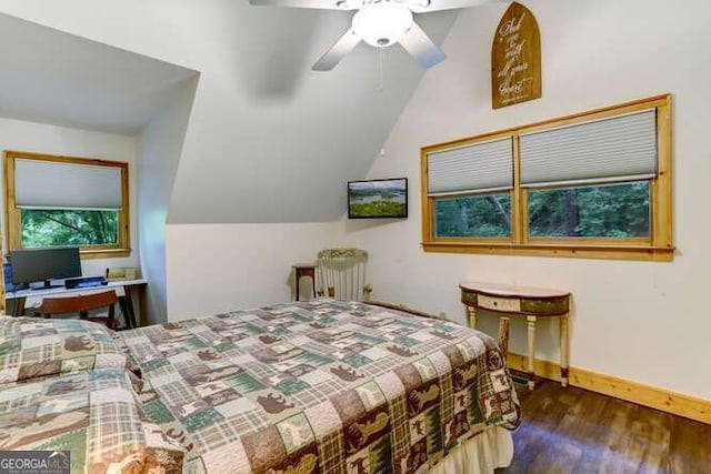
<path id="1" fill-rule="evenodd" d="M 671 98 L 422 149 L 434 252 L 671 260 Z"/>

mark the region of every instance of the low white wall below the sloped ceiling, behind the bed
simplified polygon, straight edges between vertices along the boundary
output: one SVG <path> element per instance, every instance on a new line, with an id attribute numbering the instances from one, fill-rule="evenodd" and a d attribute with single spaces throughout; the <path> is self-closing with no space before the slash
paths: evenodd
<path id="1" fill-rule="evenodd" d="M 291 265 L 333 246 L 342 222 L 170 224 L 168 319 L 289 301 Z"/>

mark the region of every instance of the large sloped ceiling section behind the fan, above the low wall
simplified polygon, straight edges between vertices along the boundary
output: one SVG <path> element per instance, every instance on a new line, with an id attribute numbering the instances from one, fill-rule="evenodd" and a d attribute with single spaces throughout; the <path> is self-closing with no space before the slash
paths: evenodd
<path id="1" fill-rule="evenodd" d="M 423 74 L 399 46 L 379 58 L 363 44 L 310 71 L 346 12 L 247 0 L 0 0 L 0 11 L 201 72 L 170 223 L 340 219 L 344 182 L 365 174 Z M 440 42 L 455 14 L 418 21 Z"/>

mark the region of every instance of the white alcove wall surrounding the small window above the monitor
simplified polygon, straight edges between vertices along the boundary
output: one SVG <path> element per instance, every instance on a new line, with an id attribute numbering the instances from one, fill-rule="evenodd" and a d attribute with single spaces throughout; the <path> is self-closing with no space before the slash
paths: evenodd
<path id="1" fill-rule="evenodd" d="M 0 118 L 0 150 L 29 151 L 34 153 L 61 154 L 67 157 L 98 158 L 101 160 L 126 161 L 129 163 L 131 255 L 120 259 L 93 259 L 81 262 L 84 275 L 103 275 L 107 266 L 137 266 L 138 225 L 136 139 L 127 135 L 90 132 L 43 123 L 24 122 Z M 3 171 L 0 171 L 2 173 Z M 2 178 L 4 180 L 4 178 Z M 4 181 L 3 181 L 4 182 Z M 2 200 L 2 249 L 7 251 L 4 228 L 4 199 Z"/>

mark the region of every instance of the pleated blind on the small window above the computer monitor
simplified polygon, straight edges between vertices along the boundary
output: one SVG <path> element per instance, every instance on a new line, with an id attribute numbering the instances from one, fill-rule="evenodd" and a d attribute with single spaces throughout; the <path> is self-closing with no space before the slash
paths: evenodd
<path id="1" fill-rule="evenodd" d="M 14 161 L 14 201 L 24 209 L 120 210 L 121 169 L 43 160 Z"/>

